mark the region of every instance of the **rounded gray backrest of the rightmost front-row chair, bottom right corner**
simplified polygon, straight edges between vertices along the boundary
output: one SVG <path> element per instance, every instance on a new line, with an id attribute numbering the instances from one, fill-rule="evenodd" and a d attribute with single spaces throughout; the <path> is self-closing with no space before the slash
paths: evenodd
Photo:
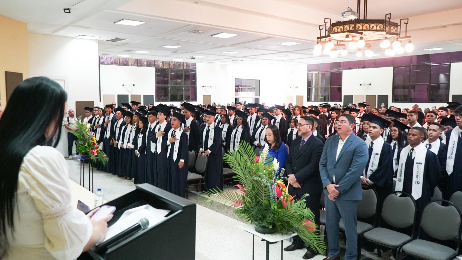
<path id="1" fill-rule="evenodd" d="M 438 201 L 431 201 L 422 210 L 420 227 L 433 238 L 438 240 L 451 240 L 460 235 L 461 232 L 461 211 L 453 203 L 441 199 L 440 202 L 447 202 L 448 206 L 438 204 Z"/>

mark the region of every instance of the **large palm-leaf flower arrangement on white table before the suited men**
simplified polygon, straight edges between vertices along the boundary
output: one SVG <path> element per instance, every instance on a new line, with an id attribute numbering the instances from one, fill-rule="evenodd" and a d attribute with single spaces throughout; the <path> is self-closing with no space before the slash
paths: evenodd
<path id="1" fill-rule="evenodd" d="M 304 198 L 294 199 L 288 194 L 288 185 L 284 180 L 284 169 L 278 173 L 279 163 L 268 154 L 265 146 L 256 156 L 252 147 L 242 142 L 237 151 L 225 154 L 224 160 L 230 165 L 239 188 L 235 191 L 212 189 L 203 192 L 206 202 L 221 202 L 234 207 L 234 212 L 245 222 L 255 224 L 257 228 L 279 230 L 285 233 L 297 233 L 313 250 L 324 254 L 326 246 L 314 223 L 314 214 L 306 208 Z M 288 183 L 288 182 L 286 182 Z"/>

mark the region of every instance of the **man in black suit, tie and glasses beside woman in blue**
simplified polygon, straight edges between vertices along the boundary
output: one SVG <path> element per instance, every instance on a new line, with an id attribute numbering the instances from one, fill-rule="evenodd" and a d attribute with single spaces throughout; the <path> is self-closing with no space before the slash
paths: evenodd
<path id="1" fill-rule="evenodd" d="M 292 141 L 292 146 L 286 161 L 286 174 L 289 183 L 289 194 L 300 199 L 304 194 L 306 207 L 315 215 L 315 223 L 319 225 L 319 204 L 322 196 L 322 181 L 319 175 L 319 160 L 324 144 L 313 135 L 313 119 L 302 116 L 297 124 L 298 136 Z M 308 246 L 307 246 L 308 247 Z M 286 251 L 304 248 L 303 240 L 297 235 L 293 237 L 292 245 L 284 248 Z M 303 259 L 313 258 L 316 253 L 308 247 Z"/>

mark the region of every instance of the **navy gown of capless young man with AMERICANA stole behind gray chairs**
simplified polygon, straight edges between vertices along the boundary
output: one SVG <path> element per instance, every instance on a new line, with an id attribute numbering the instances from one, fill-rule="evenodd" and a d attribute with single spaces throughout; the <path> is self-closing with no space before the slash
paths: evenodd
<path id="1" fill-rule="evenodd" d="M 400 160 L 400 154 L 398 154 L 398 161 Z M 413 184 L 413 165 L 414 159 L 407 159 L 404 167 L 404 183 L 403 192 L 412 195 L 412 184 Z M 451 174 L 452 175 L 452 174 Z M 427 150 L 425 158 L 424 178 L 422 186 L 422 196 L 415 201 L 417 205 L 418 214 L 420 215 L 425 204 L 430 202 L 435 187 L 438 185 L 440 179 L 440 166 L 438 157 L 430 150 Z"/>

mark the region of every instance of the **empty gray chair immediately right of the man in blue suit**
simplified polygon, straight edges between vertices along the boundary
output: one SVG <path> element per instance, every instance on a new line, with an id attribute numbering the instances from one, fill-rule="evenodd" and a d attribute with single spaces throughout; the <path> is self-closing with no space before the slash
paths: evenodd
<path id="1" fill-rule="evenodd" d="M 361 219 L 374 217 L 377 214 L 377 192 L 371 186 L 369 186 L 368 189 L 363 189 L 362 192 L 363 199 L 358 202 L 358 207 L 356 209 L 356 217 Z M 356 232 L 358 233 L 358 256 L 361 254 L 361 241 L 364 232 L 373 229 L 374 227 L 376 227 L 376 224 L 377 216 L 374 217 L 372 224 L 359 220 L 357 221 Z M 345 225 L 343 224 L 341 218 L 339 227 L 341 231 L 345 231 Z"/>

